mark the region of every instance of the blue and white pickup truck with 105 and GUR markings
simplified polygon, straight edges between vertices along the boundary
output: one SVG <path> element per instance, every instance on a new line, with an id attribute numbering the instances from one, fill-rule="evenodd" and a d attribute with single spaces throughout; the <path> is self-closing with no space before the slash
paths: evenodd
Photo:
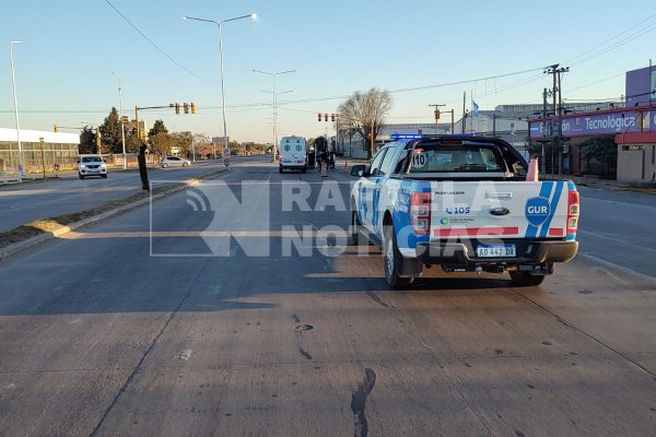
<path id="1" fill-rule="evenodd" d="M 571 181 L 526 181 L 507 142 L 433 135 L 386 144 L 355 165 L 352 237 L 383 249 L 385 280 L 409 286 L 423 267 L 508 272 L 515 285 L 542 283 L 554 262 L 576 256 L 579 199 Z"/>

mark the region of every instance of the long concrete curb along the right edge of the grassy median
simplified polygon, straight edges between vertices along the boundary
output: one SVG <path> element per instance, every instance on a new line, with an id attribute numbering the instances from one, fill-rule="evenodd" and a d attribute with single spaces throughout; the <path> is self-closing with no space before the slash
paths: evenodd
<path id="1" fill-rule="evenodd" d="M 32 246 L 38 245 L 39 243 L 47 241 L 47 240 L 49 240 L 51 238 L 57 238 L 57 237 L 59 237 L 61 235 L 70 233 L 71 231 L 74 231 L 74 229 L 77 229 L 79 227 L 86 226 L 86 225 L 92 224 L 92 223 L 102 222 L 102 221 L 110 218 L 110 217 L 113 217 L 115 215 L 122 214 L 122 213 L 128 212 L 130 210 L 137 209 L 137 208 L 143 205 L 144 203 L 150 203 L 152 200 L 161 199 L 161 198 L 163 198 L 165 196 L 173 194 L 175 192 L 178 192 L 178 191 L 181 191 L 181 190 L 186 189 L 187 187 L 192 187 L 192 186 L 197 185 L 198 182 L 200 182 L 201 180 L 211 179 L 213 177 L 218 177 L 218 176 L 221 176 L 221 175 L 230 173 L 230 172 L 231 172 L 231 169 L 221 169 L 221 170 L 218 170 L 218 172 L 209 173 L 207 175 L 201 175 L 201 176 L 198 176 L 198 177 L 195 177 L 195 178 L 189 178 L 189 179 L 184 180 L 183 185 L 180 185 L 180 186 L 172 187 L 172 188 L 169 188 L 169 189 L 167 189 L 165 191 L 159 192 L 156 194 L 151 194 L 151 196 L 147 197 L 145 199 L 140 199 L 140 200 L 137 200 L 137 201 L 134 201 L 132 203 L 120 205 L 120 206 L 117 206 L 117 208 L 115 208 L 113 210 L 105 211 L 105 212 L 99 213 L 97 215 L 93 215 L 93 216 L 91 216 L 89 218 L 84 218 L 84 220 L 81 220 L 79 222 L 71 223 L 69 225 L 58 227 L 55 231 L 47 231 L 47 232 L 44 232 L 43 234 L 35 235 L 34 237 L 30 237 L 30 238 L 24 239 L 22 241 L 13 243 L 13 244 L 11 244 L 11 245 L 9 245 L 7 247 L 0 248 L 0 261 L 4 260 L 5 258 L 8 258 L 8 257 L 10 257 L 10 256 L 12 256 L 12 255 L 21 251 L 21 250 L 24 250 L 24 249 L 27 249 L 27 248 L 30 248 Z M 117 199 L 117 200 L 120 200 L 120 199 Z"/>

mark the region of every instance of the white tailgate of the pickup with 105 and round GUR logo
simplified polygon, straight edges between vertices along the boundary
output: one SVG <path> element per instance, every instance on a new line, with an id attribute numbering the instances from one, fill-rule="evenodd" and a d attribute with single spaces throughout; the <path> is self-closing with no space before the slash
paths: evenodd
<path id="1" fill-rule="evenodd" d="M 431 240 L 565 238 L 566 181 L 432 181 Z M 572 238 L 573 239 L 573 238 Z"/>

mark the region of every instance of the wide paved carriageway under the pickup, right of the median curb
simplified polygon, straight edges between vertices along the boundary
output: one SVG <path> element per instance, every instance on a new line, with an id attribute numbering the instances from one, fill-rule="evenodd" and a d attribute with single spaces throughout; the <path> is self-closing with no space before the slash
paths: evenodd
<path id="1" fill-rule="evenodd" d="M 321 181 L 243 163 L 2 261 L 0 434 L 654 435 L 654 279 L 577 257 L 393 292 L 339 245 L 350 178 Z"/>

